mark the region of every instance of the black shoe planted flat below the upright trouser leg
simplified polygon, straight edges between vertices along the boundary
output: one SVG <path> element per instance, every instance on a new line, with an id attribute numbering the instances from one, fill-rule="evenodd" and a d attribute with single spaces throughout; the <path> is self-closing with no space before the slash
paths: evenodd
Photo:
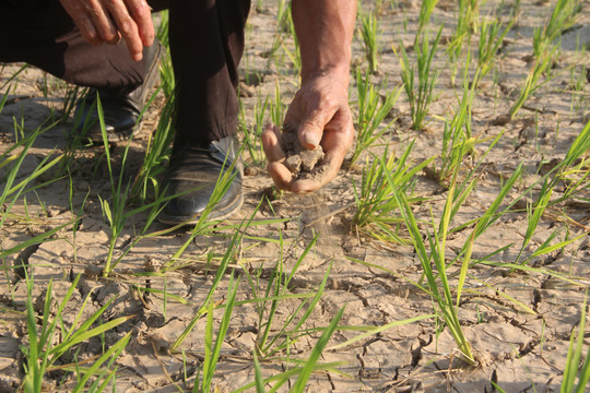
<path id="1" fill-rule="evenodd" d="M 228 172 L 232 164 L 233 170 Z M 208 216 L 210 219 L 226 218 L 241 206 L 243 164 L 237 142 L 227 136 L 202 145 L 180 147 L 170 158 L 166 178 L 166 196 L 177 196 L 168 201 L 158 216 L 160 222 L 167 225 L 196 224 L 214 194 L 221 172 L 233 176 L 233 180 L 225 193 L 219 196 Z M 217 187 L 222 186 L 220 181 Z"/>

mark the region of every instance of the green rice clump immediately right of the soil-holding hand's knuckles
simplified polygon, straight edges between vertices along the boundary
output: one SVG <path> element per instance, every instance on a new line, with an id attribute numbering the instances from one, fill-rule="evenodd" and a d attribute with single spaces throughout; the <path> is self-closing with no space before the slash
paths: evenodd
<path id="1" fill-rule="evenodd" d="M 358 118 L 356 143 L 351 157 L 350 165 L 356 163 L 363 152 L 366 152 L 385 132 L 391 127 L 391 120 L 377 132 L 377 129 L 391 112 L 393 105 L 401 93 L 401 86 L 386 94 L 381 100 L 379 90 L 370 82 L 368 72 L 363 78 L 359 70 L 356 70 L 356 88 L 358 92 Z"/>

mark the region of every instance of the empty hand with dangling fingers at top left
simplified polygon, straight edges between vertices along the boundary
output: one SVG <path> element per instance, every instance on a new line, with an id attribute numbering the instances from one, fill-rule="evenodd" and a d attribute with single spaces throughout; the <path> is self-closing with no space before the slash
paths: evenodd
<path id="1" fill-rule="evenodd" d="M 135 61 L 154 41 L 152 12 L 145 0 L 60 0 L 91 45 L 127 43 Z"/>

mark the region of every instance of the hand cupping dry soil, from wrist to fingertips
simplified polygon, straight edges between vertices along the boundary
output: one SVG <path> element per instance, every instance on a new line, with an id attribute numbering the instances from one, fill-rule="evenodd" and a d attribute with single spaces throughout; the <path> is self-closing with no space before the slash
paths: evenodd
<path id="1" fill-rule="evenodd" d="M 303 83 L 286 112 L 283 127 L 296 130 L 299 142 L 307 148 L 321 145 L 323 160 L 312 170 L 312 177 L 296 179 L 283 164 L 281 132 L 267 126 L 262 146 L 269 159 L 268 170 L 276 187 L 293 192 L 316 191 L 330 182 L 342 166 L 353 144 L 354 127 L 349 107 L 347 75 L 320 74 Z"/>

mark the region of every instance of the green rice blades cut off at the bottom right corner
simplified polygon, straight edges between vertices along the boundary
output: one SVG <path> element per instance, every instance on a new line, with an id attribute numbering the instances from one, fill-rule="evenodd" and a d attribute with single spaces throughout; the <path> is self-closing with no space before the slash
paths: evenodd
<path id="1" fill-rule="evenodd" d="M 581 307 L 580 324 L 578 325 L 578 336 L 575 336 L 575 332 L 571 332 L 569 338 L 569 349 L 567 352 L 566 367 L 564 370 L 564 379 L 562 381 L 562 393 L 573 392 L 582 393 L 588 388 L 588 381 L 590 381 L 590 347 L 583 356 L 583 335 L 586 327 L 586 303 L 588 300 L 588 290 L 586 290 L 586 297 Z M 582 359 L 583 357 L 583 359 Z M 580 368 L 580 362 L 581 368 Z M 576 384 L 576 379 L 578 383 Z"/>

